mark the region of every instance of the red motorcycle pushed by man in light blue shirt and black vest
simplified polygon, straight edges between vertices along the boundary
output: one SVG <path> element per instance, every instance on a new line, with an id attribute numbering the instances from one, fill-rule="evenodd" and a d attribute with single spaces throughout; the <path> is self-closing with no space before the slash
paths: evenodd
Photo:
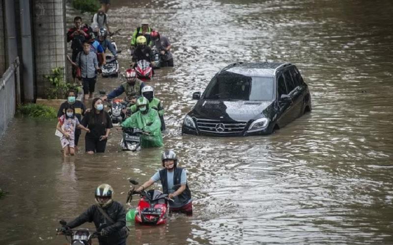
<path id="1" fill-rule="evenodd" d="M 133 185 L 139 183 L 133 179 L 129 179 Z M 134 187 L 128 192 L 127 203 L 132 201 L 134 195 Z M 148 190 L 140 193 L 140 200 L 135 210 L 135 223 L 159 225 L 165 224 L 168 220 L 169 207 L 168 200 L 173 201 L 168 197 L 168 194 L 163 194 L 159 190 Z M 130 209 L 128 212 L 134 212 Z M 129 216 L 129 214 L 127 214 Z"/>

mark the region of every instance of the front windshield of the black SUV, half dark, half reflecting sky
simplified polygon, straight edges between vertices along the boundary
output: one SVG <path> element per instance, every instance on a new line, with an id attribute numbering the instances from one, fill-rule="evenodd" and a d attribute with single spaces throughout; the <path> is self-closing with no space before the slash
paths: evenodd
<path id="1" fill-rule="evenodd" d="M 225 72 L 213 77 L 204 99 L 270 101 L 273 99 L 273 77 Z"/>

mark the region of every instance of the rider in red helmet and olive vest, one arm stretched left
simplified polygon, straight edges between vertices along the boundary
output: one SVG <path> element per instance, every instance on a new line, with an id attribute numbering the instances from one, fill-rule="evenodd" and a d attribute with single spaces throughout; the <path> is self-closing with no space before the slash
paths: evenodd
<path id="1" fill-rule="evenodd" d="M 141 89 L 145 85 L 143 81 L 137 78 L 137 73 L 134 69 L 127 69 L 125 77 L 127 79 L 126 82 L 123 82 L 119 87 L 117 87 L 111 93 L 102 97 L 101 99 L 105 100 L 107 98 L 116 98 L 125 92 L 126 100 L 132 104 L 135 104 L 135 102 L 137 101 L 136 98 L 141 95 Z"/>

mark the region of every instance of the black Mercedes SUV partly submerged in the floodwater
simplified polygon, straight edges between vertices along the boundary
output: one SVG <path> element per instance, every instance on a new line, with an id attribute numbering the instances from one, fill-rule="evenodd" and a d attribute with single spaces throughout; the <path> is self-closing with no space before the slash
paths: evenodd
<path id="1" fill-rule="evenodd" d="M 309 88 L 290 63 L 234 63 L 217 73 L 186 115 L 182 133 L 271 134 L 311 111 Z"/>

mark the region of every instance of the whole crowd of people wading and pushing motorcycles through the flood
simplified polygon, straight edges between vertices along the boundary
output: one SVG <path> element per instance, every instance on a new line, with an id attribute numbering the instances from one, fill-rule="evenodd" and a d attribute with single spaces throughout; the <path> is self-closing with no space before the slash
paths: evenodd
<path id="1" fill-rule="evenodd" d="M 160 99 L 154 97 L 152 86 L 146 85 L 138 79 L 135 63 L 154 60 L 152 47 L 160 56 L 160 67 L 173 67 L 173 57 L 170 52 L 171 44 L 167 37 L 149 26 L 147 20 L 142 20 L 131 38 L 131 68 L 124 73 L 126 81 L 101 98 L 93 98 L 97 74 L 106 65 L 107 49 L 117 57 L 111 40 L 112 35 L 108 25 L 108 10 L 110 0 L 101 0 L 101 8 L 92 17 L 91 25 L 82 22 L 82 18 L 74 18 L 74 26 L 67 32 L 67 42 L 71 42 L 72 55 L 68 60 L 72 64 L 74 83 L 82 81 L 84 101 L 77 100 L 77 91 L 70 90 L 67 100 L 61 104 L 56 125 L 56 135 L 60 137 L 60 144 L 64 157 L 78 152 L 78 143 L 82 131 L 86 131 L 85 152 L 94 154 L 105 152 L 112 125 L 110 115 L 104 110 L 104 102 L 108 99 L 125 94 L 131 115 L 119 126 L 122 128 L 138 128 L 143 130 L 141 147 L 162 147 L 162 131 L 165 130 L 164 107 Z M 84 103 L 91 99 L 91 108 L 86 109 Z M 124 111 L 123 113 L 125 113 Z M 134 193 L 138 194 L 153 183 L 161 181 L 163 191 L 173 201 L 169 203 L 171 212 L 181 212 L 192 216 L 191 192 L 187 185 L 186 172 L 177 166 L 177 156 L 174 151 L 166 150 L 162 154 L 163 169 L 154 174 Z M 177 188 L 176 188 L 177 186 Z M 126 211 L 121 203 L 112 199 L 113 189 L 108 184 L 102 184 L 95 191 L 96 204 L 89 207 L 74 221 L 68 222 L 60 231 L 79 226 L 84 222 L 94 222 L 100 232 L 100 245 L 125 245 L 128 235 L 125 217 Z"/>

